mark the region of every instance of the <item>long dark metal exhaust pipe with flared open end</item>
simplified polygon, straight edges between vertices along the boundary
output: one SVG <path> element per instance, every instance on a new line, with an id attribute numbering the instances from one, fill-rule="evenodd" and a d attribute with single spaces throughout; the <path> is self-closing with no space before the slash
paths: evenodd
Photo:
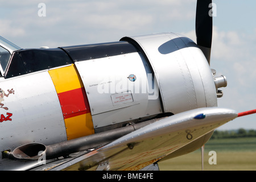
<path id="1" fill-rule="evenodd" d="M 27 160 L 38 160 L 43 155 L 46 155 L 46 159 L 54 159 L 60 156 L 67 157 L 69 154 L 75 152 L 89 150 L 98 146 L 103 146 L 112 142 L 115 139 L 122 137 L 123 135 L 129 134 L 135 130 L 140 129 L 143 126 L 154 123 L 162 118 L 151 119 L 137 124 L 127 125 L 119 129 L 104 131 L 85 137 L 67 140 L 65 142 L 55 143 L 45 146 L 42 143 L 28 143 L 19 146 L 14 149 L 13 152 L 3 151 L 3 158 L 9 159 L 27 159 Z"/>

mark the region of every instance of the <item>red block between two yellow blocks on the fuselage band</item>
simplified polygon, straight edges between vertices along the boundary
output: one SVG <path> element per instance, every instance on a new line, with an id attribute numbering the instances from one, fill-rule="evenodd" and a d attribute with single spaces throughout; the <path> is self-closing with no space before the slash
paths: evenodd
<path id="1" fill-rule="evenodd" d="M 78 115 L 90 113 L 90 107 L 84 88 L 58 93 L 58 97 L 64 116 L 74 113 Z"/>

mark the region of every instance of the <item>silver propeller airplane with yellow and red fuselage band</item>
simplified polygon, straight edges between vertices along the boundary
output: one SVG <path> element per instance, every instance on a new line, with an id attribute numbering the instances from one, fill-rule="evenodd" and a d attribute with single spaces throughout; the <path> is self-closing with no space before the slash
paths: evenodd
<path id="1" fill-rule="evenodd" d="M 243 115 L 217 106 L 212 1 L 197 43 L 172 32 L 23 49 L 0 37 L 0 170 L 159 170 Z"/>

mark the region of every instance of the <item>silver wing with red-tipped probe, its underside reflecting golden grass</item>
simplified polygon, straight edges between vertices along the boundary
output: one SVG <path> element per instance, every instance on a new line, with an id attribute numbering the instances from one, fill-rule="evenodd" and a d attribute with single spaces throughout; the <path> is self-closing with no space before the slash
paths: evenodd
<path id="1" fill-rule="evenodd" d="M 172 115 L 51 170 L 139 170 L 237 117 L 210 107 Z"/>

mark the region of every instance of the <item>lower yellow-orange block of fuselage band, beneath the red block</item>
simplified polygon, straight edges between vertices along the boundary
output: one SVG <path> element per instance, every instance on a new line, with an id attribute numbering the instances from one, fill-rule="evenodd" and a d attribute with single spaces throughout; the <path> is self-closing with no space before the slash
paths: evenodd
<path id="1" fill-rule="evenodd" d="M 68 140 L 94 134 L 90 113 L 65 119 Z"/>

